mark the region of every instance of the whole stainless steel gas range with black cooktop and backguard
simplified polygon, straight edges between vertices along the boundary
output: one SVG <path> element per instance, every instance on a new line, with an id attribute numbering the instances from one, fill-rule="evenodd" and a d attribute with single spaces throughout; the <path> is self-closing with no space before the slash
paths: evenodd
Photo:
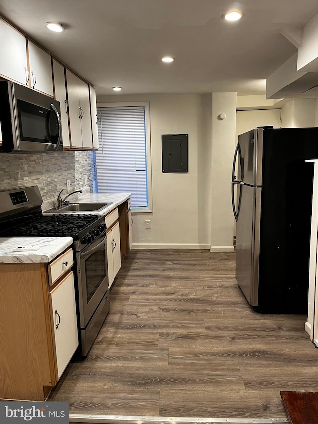
<path id="1" fill-rule="evenodd" d="M 86 356 L 109 312 L 106 225 L 94 214 L 43 215 L 37 186 L 0 191 L 0 237 L 74 240 L 79 354 Z"/>

